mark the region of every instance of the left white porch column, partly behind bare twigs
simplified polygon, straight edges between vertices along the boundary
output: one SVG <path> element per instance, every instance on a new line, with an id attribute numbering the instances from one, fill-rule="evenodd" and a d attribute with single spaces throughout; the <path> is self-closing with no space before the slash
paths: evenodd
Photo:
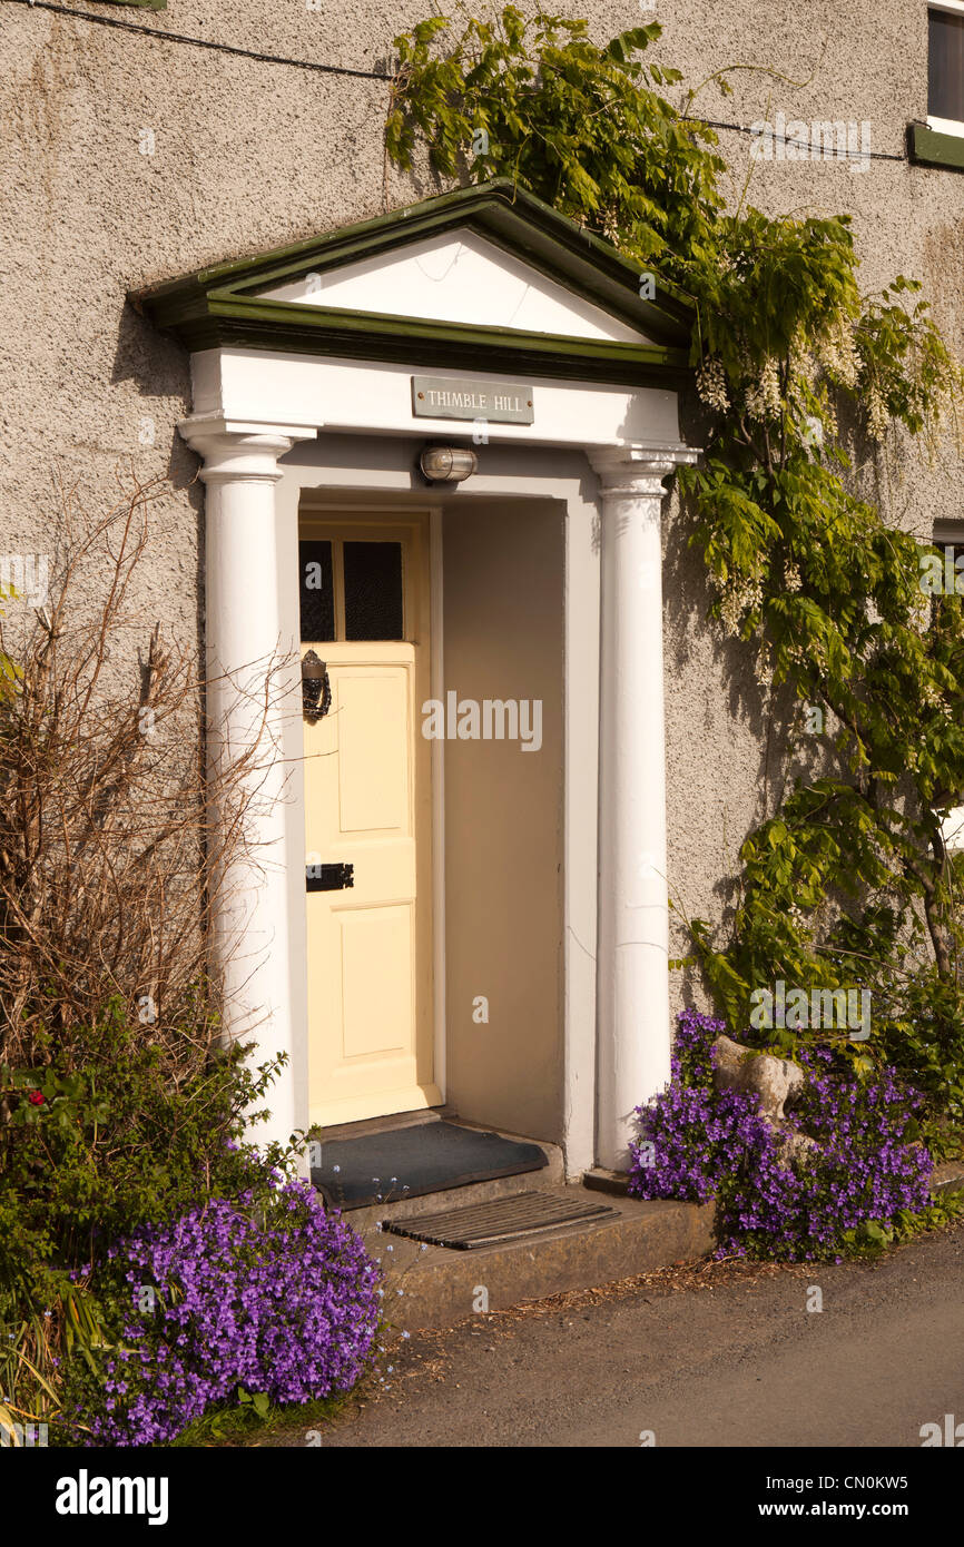
<path id="1" fill-rule="evenodd" d="M 206 681 L 212 769 L 248 758 L 241 777 L 246 838 L 220 877 L 212 965 L 224 989 L 226 1032 L 254 1043 L 252 1066 L 286 1052 L 289 1063 L 258 1106 L 268 1122 L 252 1142 L 286 1143 L 294 1129 L 289 928 L 285 874 L 285 766 L 279 665 L 297 640 L 279 610 L 275 484 L 279 456 L 305 429 L 229 425 L 197 416 L 179 425 L 204 458 Z M 229 801 L 232 804 L 232 801 Z"/>

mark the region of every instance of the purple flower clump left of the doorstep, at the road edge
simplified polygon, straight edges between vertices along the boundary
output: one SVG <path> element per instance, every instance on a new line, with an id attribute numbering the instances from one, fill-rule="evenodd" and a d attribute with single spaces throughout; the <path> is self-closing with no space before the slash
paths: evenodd
<path id="1" fill-rule="evenodd" d="M 108 1256 L 133 1309 L 93 1443 L 173 1439 L 238 1386 L 277 1403 L 348 1391 L 373 1355 L 378 1267 L 305 1182 L 279 1187 L 263 1216 L 251 1193 L 209 1199 Z"/>

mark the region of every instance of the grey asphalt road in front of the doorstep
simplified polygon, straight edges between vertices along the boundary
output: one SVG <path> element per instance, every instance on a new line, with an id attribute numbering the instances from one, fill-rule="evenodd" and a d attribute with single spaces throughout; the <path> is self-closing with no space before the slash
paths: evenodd
<path id="1" fill-rule="evenodd" d="M 964 1228 L 871 1262 L 715 1264 L 477 1316 L 413 1334 L 382 1378 L 323 1446 L 639 1446 L 647 1431 L 658 1446 L 921 1446 L 924 1423 L 964 1423 Z"/>

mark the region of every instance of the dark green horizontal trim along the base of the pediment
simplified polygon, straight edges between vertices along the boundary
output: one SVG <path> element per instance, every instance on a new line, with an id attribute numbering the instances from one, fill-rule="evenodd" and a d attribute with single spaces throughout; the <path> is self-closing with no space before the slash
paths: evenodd
<path id="1" fill-rule="evenodd" d="M 469 323 L 393 317 L 334 306 L 244 299 L 227 288 L 170 323 L 187 350 L 244 348 L 484 370 L 525 376 L 668 385 L 682 382 L 689 351 L 665 345 L 573 339 L 551 333 L 506 333 Z"/>

